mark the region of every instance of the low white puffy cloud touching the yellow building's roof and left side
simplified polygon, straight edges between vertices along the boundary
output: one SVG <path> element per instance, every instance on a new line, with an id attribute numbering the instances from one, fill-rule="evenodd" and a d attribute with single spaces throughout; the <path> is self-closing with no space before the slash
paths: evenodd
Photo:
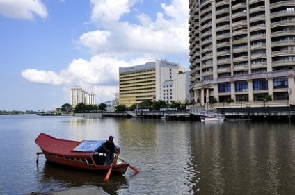
<path id="1" fill-rule="evenodd" d="M 146 58 L 129 61 L 105 54 L 96 55 L 90 60 L 74 59 L 67 69 L 56 73 L 37 69 L 22 71 L 22 77 L 31 83 L 64 85 L 66 87 L 81 86 L 87 92 L 97 94 L 98 102 L 110 101 L 118 92 L 119 67 L 143 64 Z"/>

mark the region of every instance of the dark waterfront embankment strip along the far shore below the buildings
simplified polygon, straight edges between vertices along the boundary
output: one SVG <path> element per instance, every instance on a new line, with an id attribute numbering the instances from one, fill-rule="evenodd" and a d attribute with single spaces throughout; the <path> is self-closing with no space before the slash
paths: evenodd
<path id="1" fill-rule="evenodd" d="M 202 110 L 224 115 L 225 120 L 244 119 L 244 121 L 295 121 L 294 107 L 260 107 L 260 108 L 218 108 L 217 110 Z M 194 113 L 194 114 L 192 114 Z M 75 113 L 76 117 L 86 118 L 145 118 L 170 119 L 179 121 L 200 121 L 200 114 L 191 110 L 142 111 L 142 112 L 89 112 Z"/>

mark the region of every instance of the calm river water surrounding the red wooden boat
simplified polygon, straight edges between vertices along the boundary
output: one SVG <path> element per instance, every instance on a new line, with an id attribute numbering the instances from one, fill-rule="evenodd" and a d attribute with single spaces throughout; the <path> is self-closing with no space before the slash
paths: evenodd
<path id="1" fill-rule="evenodd" d="M 115 137 L 141 173 L 104 176 L 53 166 L 35 138 Z M 0 194 L 95 185 L 109 194 L 295 194 L 295 126 L 271 122 L 0 115 Z"/>

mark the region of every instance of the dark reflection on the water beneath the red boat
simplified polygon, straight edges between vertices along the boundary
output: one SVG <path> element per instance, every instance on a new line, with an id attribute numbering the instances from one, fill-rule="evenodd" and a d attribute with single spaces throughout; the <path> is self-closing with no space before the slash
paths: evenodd
<path id="1" fill-rule="evenodd" d="M 92 185 L 104 189 L 109 194 L 118 194 L 119 189 L 128 187 L 125 176 L 111 175 L 107 182 L 104 182 L 104 177 L 104 173 L 70 169 L 46 161 L 41 173 L 40 183 L 45 188 L 44 191 Z"/>

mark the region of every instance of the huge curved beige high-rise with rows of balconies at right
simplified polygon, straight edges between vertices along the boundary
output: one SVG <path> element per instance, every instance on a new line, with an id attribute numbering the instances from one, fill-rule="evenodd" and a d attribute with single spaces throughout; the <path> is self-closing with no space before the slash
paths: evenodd
<path id="1" fill-rule="evenodd" d="M 295 101 L 295 1 L 189 0 L 191 100 Z"/>

